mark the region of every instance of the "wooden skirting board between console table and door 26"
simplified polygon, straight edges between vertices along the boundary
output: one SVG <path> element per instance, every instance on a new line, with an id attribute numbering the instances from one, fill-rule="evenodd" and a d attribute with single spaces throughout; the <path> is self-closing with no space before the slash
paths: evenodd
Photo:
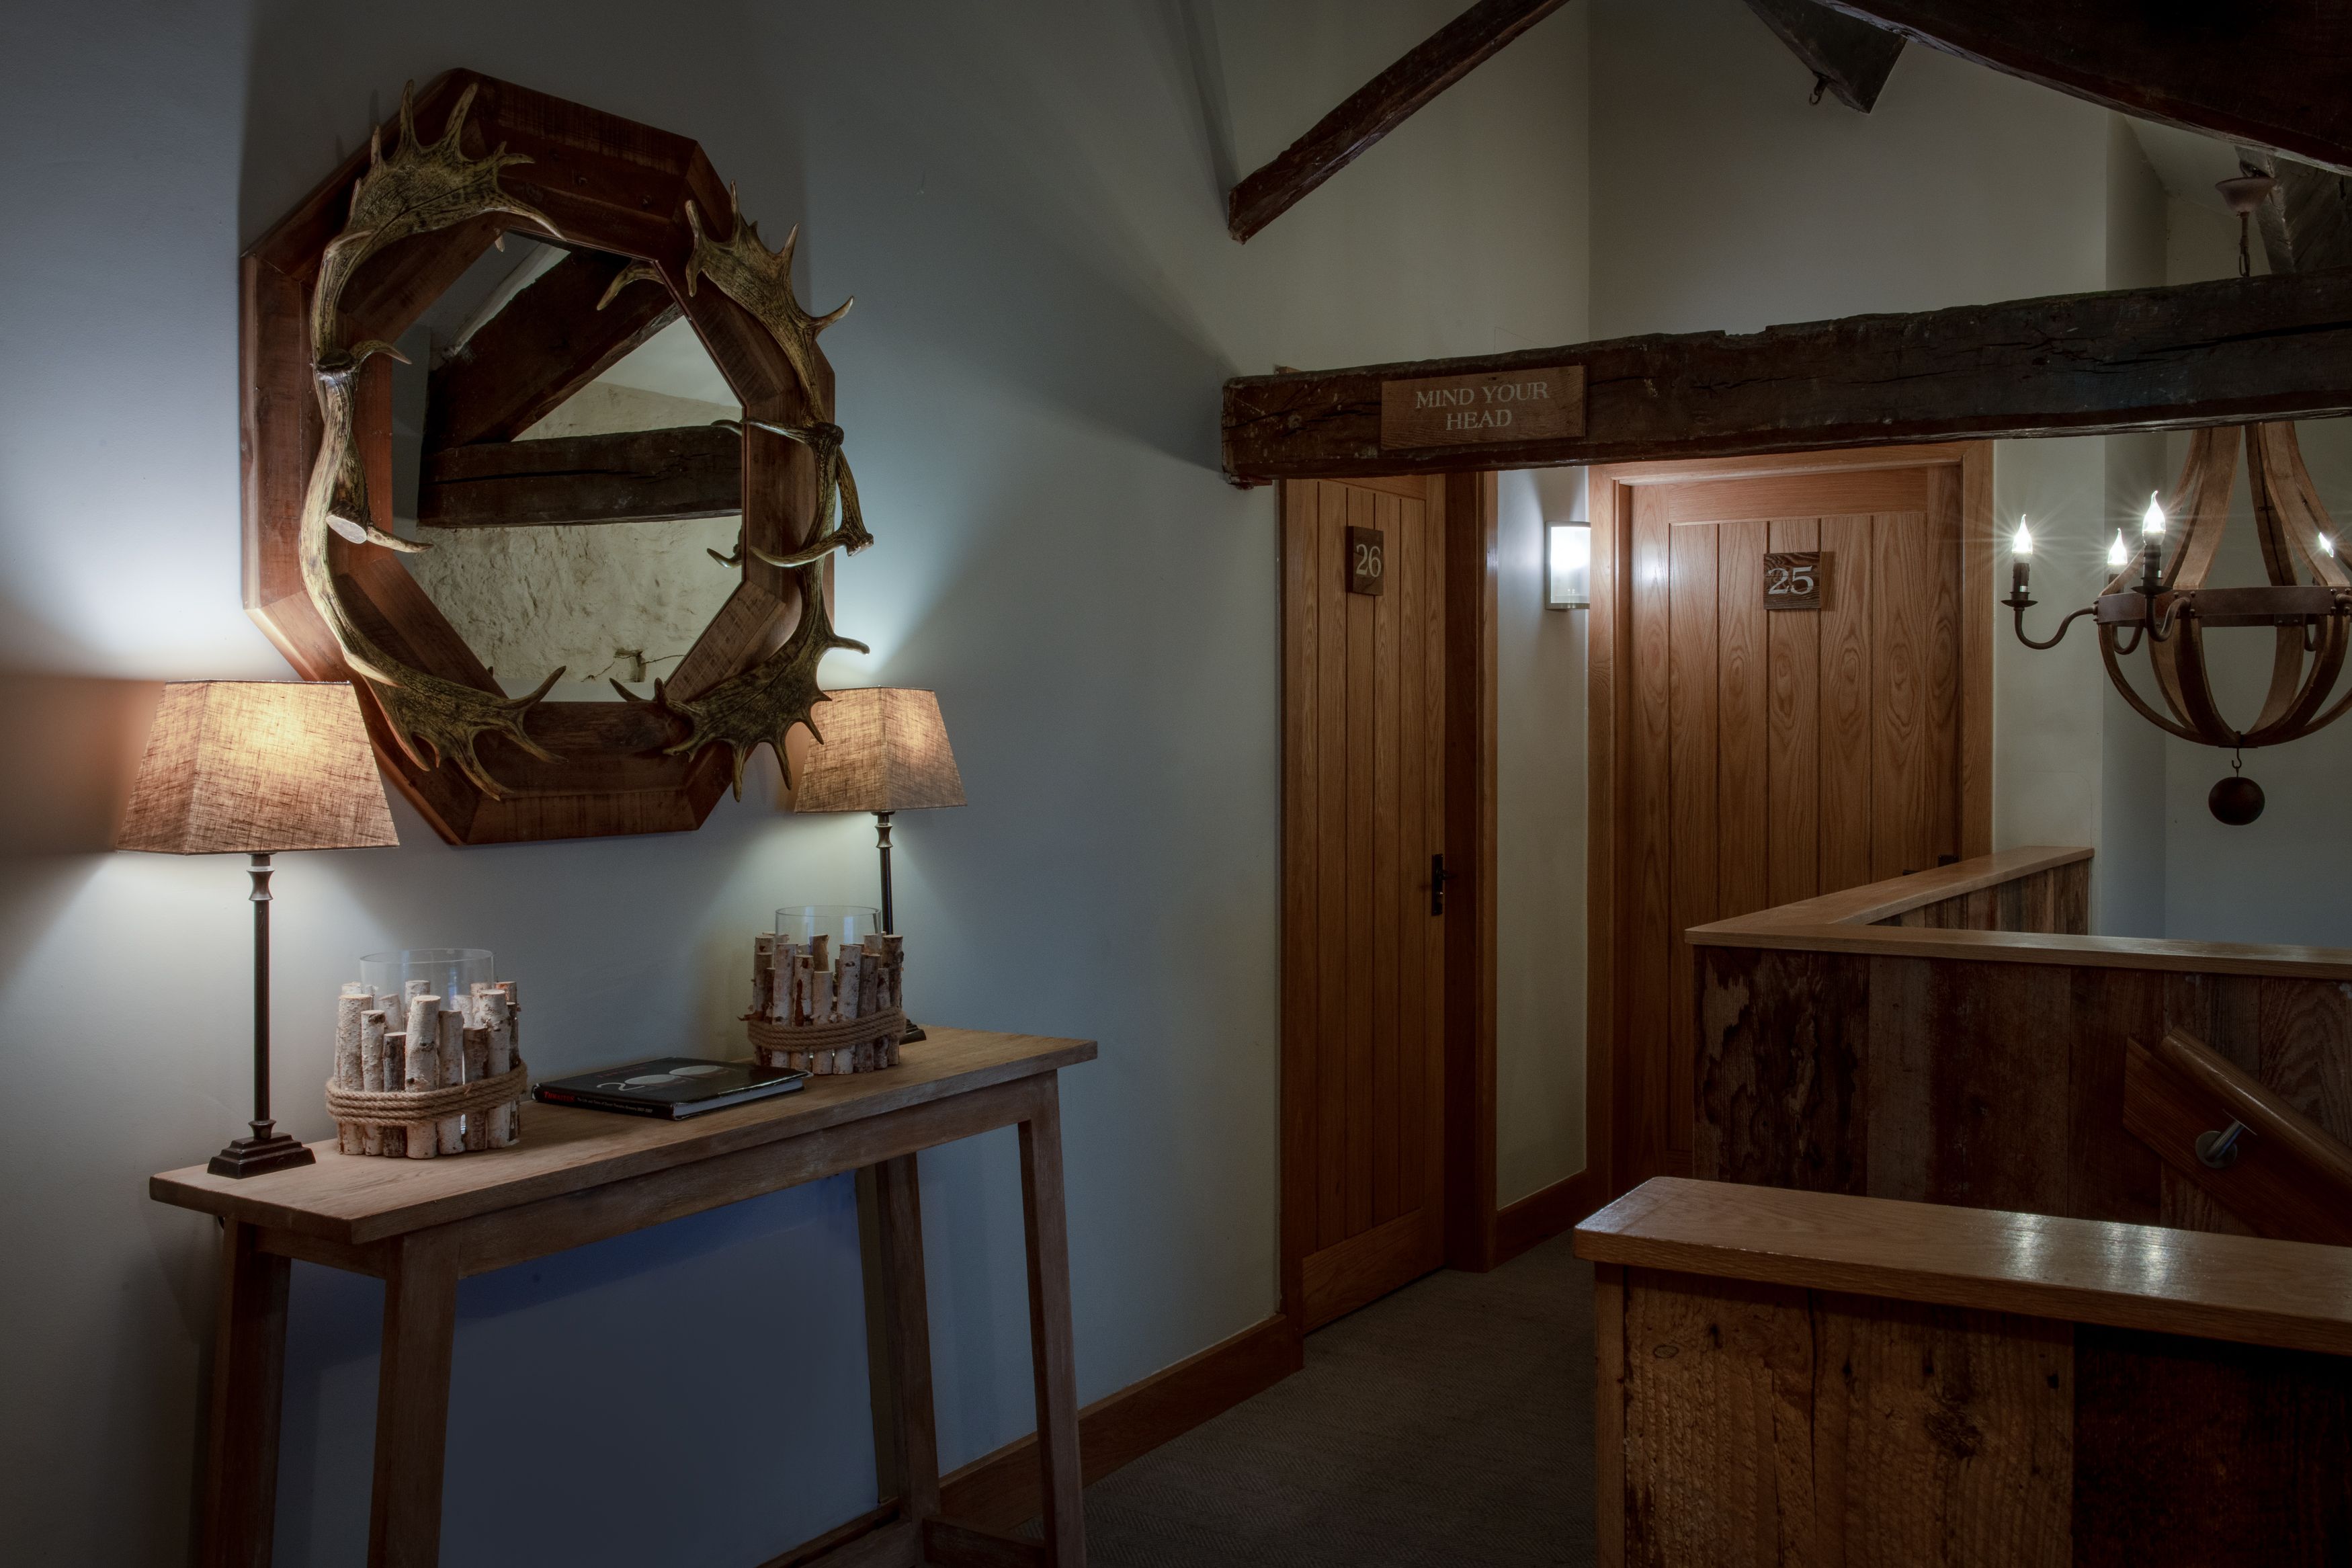
<path id="1" fill-rule="evenodd" d="M 1185 1356 L 1077 1413 L 1087 1483 L 1141 1460 L 1211 1415 L 1261 1394 L 1305 1366 L 1298 1328 L 1282 1314 Z M 1037 1516 L 1037 1439 L 983 1453 L 941 1479 L 941 1509 L 993 1530 Z"/>

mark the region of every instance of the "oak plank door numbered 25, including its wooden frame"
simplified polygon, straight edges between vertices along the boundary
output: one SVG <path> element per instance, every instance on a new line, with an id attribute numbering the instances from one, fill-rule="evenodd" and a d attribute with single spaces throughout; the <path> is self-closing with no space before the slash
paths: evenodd
<path id="1" fill-rule="evenodd" d="M 1684 931 L 1992 849 L 1990 451 L 1597 468 L 1592 517 L 1623 1190 L 1689 1171 Z M 1816 557 L 1818 609 L 1773 607 L 1804 564 L 1766 555 Z"/>

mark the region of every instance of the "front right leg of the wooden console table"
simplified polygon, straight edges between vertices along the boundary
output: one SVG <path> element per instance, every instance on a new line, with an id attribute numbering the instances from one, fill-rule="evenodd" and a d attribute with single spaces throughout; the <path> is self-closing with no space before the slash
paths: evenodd
<path id="1" fill-rule="evenodd" d="M 1070 1225 L 1061 1192 L 1061 1091 L 1051 1072 L 1037 1079 L 1037 1110 L 1021 1124 L 1021 1218 L 1028 1232 L 1037 1460 L 1044 1472 L 1044 1561 L 1049 1568 L 1084 1568 L 1087 1479 L 1077 1465 Z"/>

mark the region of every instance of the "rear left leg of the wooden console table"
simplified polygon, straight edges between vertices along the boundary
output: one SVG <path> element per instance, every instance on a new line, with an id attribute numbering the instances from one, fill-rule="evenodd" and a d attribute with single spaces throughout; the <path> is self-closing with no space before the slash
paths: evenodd
<path id="1" fill-rule="evenodd" d="M 278 1420 L 287 1378 L 285 1258 L 261 1232 L 221 1234 L 221 1321 L 212 1349 L 212 1450 L 205 1455 L 205 1568 L 268 1568 L 278 1526 Z"/>

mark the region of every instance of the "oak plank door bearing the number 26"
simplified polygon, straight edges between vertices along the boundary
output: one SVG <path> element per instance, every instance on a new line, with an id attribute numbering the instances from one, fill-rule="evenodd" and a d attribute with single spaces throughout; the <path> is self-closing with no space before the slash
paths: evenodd
<path id="1" fill-rule="evenodd" d="M 1350 590 L 1369 564 L 1350 529 L 1378 536 L 1381 592 Z M 1444 1262 L 1442 529 L 1444 480 L 1282 487 L 1282 1262 L 1301 1328 Z"/>

